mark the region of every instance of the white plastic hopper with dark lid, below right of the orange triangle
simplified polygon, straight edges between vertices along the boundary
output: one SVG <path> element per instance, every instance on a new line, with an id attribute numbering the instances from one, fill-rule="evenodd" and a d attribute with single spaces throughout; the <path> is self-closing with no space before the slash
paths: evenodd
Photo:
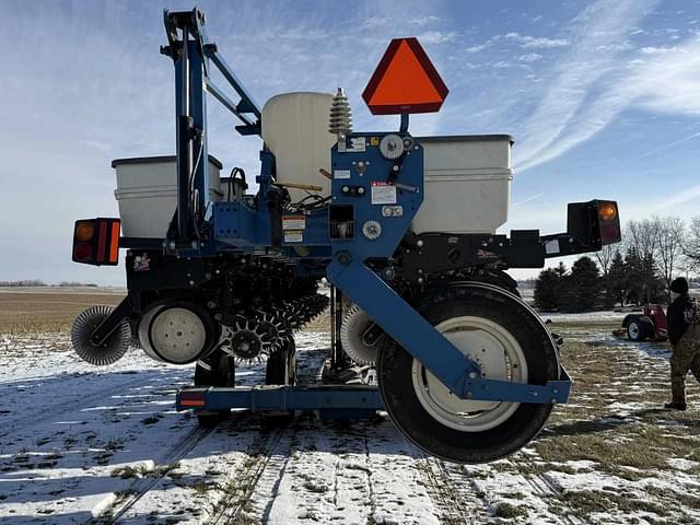
<path id="1" fill-rule="evenodd" d="M 511 200 L 509 135 L 420 137 L 425 195 L 415 233 L 494 233 Z"/>

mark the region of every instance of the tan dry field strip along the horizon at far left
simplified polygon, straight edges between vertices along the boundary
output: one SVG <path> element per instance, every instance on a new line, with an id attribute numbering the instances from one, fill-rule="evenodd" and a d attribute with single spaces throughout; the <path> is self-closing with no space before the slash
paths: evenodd
<path id="1" fill-rule="evenodd" d="M 124 295 L 89 292 L 0 292 L 0 334 L 68 331 L 75 316 L 95 304 L 118 304 Z"/>

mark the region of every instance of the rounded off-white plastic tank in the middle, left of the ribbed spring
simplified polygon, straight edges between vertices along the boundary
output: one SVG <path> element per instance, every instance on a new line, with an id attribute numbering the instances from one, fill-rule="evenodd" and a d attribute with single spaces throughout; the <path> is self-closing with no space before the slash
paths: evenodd
<path id="1" fill-rule="evenodd" d="M 277 182 L 320 186 L 318 195 L 330 195 L 330 180 L 318 170 L 330 171 L 330 148 L 336 136 L 328 132 L 332 95 L 329 93 L 283 93 L 262 107 L 262 140 L 275 153 Z M 307 192 L 289 189 L 292 201 Z"/>

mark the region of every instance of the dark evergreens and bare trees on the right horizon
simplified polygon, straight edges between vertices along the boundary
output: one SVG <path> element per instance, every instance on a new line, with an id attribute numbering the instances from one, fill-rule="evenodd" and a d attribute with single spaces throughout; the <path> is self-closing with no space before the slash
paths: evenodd
<path id="1" fill-rule="evenodd" d="M 597 264 L 596 264 L 597 262 Z M 622 242 L 539 273 L 535 305 L 542 311 L 588 312 L 616 305 L 664 303 L 670 281 L 700 269 L 700 217 L 629 221 Z"/>

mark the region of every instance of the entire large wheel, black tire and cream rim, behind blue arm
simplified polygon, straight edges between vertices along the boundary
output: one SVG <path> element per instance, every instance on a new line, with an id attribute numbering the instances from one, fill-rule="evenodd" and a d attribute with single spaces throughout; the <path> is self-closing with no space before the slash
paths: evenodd
<path id="1" fill-rule="evenodd" d="M 559 378 L 549 331 L 511 294 L 485 284 L 453 284 L 425 298 L 419 310 L 488 378 L 538 385 Z M 552 409 L 460 399 L 397 343 L 382 348 L 378 377 L 386 409 L 404 435 L 455 463 L 486 463 L 516 452 Z"/>

